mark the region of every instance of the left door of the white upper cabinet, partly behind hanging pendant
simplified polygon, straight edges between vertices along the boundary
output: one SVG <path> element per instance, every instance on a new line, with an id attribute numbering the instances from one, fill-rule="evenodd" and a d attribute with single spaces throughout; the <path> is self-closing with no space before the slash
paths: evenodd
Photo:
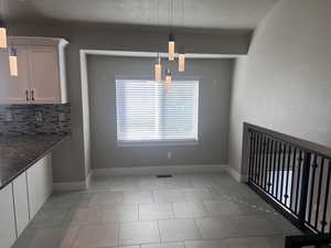
<path id="1" fill-rule="evenodd" d="M 10 76 L 9 56 L 1 51 L 0 56 L 0 78 L 1 78 L 1 103 L 2 104 L 29 104 L 29 65 L 28 48 L 15 46 L 18 52 L 18 76 Z"/>

